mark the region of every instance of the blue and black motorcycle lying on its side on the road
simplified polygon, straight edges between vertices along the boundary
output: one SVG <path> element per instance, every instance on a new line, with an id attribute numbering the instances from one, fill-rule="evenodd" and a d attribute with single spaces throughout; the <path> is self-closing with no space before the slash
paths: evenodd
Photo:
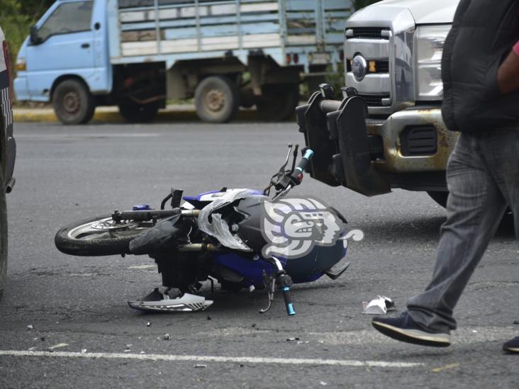
<path id="1" fill-rule="evenodd" d="M 213 290 L 218 281 L 228 291 L 267 289 L 268 305 L 259 310 L 262 313 L 271 308 L 279 289 L 286 312 L 295 315 L 292 283 L 323 275 L 336 279 L 350 265 L 342 261 L 347 251 L 345 218 L 316 199 L 286 197 L 311 169 L 312 150 L 303 150 L 296 166 L 297 154 L 298 146 L 289 145 L 283 166 L 264 191 L 222 188 L 189 197 L 172 188 L 158 210 L 135 205 L 63 227 L 56 234 L 56 247 L 76 256 L 147 254 L 155 259 L 162 286 L 128 301 L 138 310 L 205 310 L 213 302 L 194 293 L 203 282 L 211 282 Z"/>

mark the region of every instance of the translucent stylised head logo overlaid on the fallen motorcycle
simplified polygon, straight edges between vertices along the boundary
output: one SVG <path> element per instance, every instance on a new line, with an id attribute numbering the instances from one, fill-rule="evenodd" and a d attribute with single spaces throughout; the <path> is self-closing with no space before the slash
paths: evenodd
<path id="1" fill-rule="evenodd" d="M 263 201 L 264 257 L 299 258 L 313 247 L 333 246 L 341 239 L 337 217 L 316 198 L 283 198 Z"/>

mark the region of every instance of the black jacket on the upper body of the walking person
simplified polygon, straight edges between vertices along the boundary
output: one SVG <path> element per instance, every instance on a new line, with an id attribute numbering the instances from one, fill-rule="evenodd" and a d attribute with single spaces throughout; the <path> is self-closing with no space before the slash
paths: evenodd
<path id="1" fill-rule="evenodd" d="M 474 133 L 519 123 L 519 90 L 502 96 L 498 69 L 519 39 L 518 0 L 462 0 L 442 56 L 447 128 Z"/>

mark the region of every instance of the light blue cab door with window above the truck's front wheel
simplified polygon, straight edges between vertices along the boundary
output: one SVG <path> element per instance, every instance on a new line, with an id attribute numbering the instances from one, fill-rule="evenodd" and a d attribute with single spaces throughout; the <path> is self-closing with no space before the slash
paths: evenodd
<path id="1" fill-rule="evenodd" d="M 57 77 L 76 75 L 86 84 L 94 77 L 94 1 L 57 1 L 36 25 L 27 47 L 27 81 L 31 99 L 48 101 Z"/>

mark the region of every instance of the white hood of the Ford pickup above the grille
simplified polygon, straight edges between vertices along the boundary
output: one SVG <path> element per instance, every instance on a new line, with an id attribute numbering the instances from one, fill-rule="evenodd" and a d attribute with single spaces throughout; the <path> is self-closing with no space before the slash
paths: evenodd
<path id="1" fill-rule="evenodd" d="M 416 24 L 452 23 L 458 3 L 459 0 L 385 0 L 355 13 L 352 20 L 373 20 L 372 12 L 380 15 L 386 9 L 389 15 L 394 15 L 398 11 L 409 11 Z"/>

